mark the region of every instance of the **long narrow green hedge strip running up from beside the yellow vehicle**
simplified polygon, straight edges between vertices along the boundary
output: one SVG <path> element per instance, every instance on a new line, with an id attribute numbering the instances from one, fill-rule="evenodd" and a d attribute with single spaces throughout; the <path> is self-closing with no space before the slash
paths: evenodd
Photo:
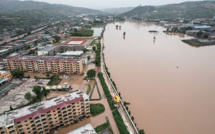
<path id="1" fill-rule="evenodd" d="M 108 104 L 109 104 L 111 110 L 113 110 L 113 109 L 115 109 L 115 106 L 114 106 L 115 103 L 113 102 L 113 98 L 112 98 L 112 96 L 110 94 L 110 91 L 109 91 L 108 86 L 107 86 L 107 84 L 105 82 L 103 74 L 101 72 L 98 73 L 98 77 L 99 77 L 99 80 L 100 80 L 100 82 L 102 84 L 102 88 L 104 90 L 105 96 L 106 96 L 106 98 L 108 100 Z"/>

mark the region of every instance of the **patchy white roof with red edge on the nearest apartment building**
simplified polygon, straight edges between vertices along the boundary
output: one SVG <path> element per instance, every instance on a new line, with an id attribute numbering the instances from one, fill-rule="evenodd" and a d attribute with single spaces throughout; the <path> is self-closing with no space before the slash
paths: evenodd
<path id="1" fill-rule="evenodd" d="M 20 109 L 16 109 L 0 116 L 0 127 L 10 126 L 22 120 L 37 116 L 40 113 L 47 113 L 50 110 L 63 107 L 65 104 L 75 103 L 83 99 L 89 99 L 84 90 L 77 90 L 51 100 L 42 101 Z"/>

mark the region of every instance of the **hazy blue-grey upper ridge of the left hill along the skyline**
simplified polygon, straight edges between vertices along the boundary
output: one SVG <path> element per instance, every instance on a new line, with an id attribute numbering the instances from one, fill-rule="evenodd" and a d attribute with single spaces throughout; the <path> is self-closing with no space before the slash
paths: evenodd
<path id="1" fill-rule="evenodd" d="M 0 0 L 0 13 L 14 13 L 20 11 L 37 10 L 46 14 L 77 15 L 77 14 L 102 14 L 101 11 L 87 8 L 73 7 L 60 4 L 49 4 L 36 1 Z"/>

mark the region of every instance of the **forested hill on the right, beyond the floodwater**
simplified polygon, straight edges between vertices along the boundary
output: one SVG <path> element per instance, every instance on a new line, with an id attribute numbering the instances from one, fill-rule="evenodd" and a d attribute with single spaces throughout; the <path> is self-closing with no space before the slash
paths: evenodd
<path id="1" fill-rule="evenodd" d="M 215 1 L 183 2 L 163 6 L 139 6 L 121 15 L 149 19 L 211 18 L 215 16 Z"/>

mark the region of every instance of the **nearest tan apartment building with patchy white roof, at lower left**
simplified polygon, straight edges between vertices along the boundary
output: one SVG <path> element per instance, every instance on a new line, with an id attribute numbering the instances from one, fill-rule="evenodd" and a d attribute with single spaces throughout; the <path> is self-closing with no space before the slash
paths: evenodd
<path id="1" fill-rule="evenodd" d="M 0 116 L 0 134 L 47 134 L 89 116 L 89 97 L 83 90 L 77 90 L 6 112 Z"/>

